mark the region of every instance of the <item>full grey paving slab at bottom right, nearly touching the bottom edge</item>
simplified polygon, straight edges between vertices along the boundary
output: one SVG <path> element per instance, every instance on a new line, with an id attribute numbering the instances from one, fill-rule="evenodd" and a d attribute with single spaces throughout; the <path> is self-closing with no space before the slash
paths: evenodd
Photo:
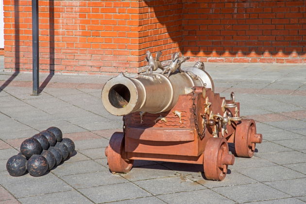
<path id="1" fill-rule="evenodd" d="M 231 187 L 217 187 L 214 191 L 238 203 L 288 198 L 288 194 L 264 184 L 246 184 Z"/>

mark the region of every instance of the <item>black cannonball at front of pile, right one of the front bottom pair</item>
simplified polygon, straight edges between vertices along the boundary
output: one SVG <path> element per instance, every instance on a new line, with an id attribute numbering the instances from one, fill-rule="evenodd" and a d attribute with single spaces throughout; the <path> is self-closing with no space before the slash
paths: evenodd
<path id="1" fill-rule="evenodd" d="M 48 170 L 48 162 L 42 155 L 34 154 L 27 162 L 27 169 L 32 176 L 42 176 Z"/>

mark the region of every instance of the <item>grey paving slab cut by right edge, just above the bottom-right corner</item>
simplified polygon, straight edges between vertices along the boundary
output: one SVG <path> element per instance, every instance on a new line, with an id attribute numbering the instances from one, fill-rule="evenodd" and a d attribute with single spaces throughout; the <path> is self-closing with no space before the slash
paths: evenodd
<path id="1" fill-rule="evenodd" d="M 306 178 L 265 182 L 265 184 L 294 197 L 306 195 Z"/>

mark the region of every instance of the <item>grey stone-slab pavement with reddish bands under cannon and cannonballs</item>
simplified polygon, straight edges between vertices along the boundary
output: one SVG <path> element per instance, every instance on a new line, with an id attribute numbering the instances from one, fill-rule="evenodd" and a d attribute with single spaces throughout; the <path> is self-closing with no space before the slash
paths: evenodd
<path id="1" fill-rule="evenodd" d="M 167 162 L 110 173 L 104 148 L 122 120 L 102 106 L 108 76 L 41 74 L 43 91 L 31 96 L 32 74 L 0 72 L 0 204 L 305 203 L 306 65 L 205 66 L 216 92 L 234 91 L 241 116 L 254 118 L 264 139 L 254 157 L 236 157 L 222 182 L 205 180 L 201 165 Z M 50 126 L 75 141 L 76 155 L 41 177 L 10 176 L 7 159 Z"/>

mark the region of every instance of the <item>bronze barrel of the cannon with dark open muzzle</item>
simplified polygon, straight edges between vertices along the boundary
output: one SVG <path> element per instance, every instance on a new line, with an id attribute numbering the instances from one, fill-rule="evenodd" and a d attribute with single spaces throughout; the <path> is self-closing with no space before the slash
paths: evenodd
<path id="1" fill-rule="evenodd" d="M 135 78 L 120 73 L 103 86 L 102 103 L 116 116 L 137 111 L 161 113 L 173 108 L 179 95 L 190 93 L 193 86 L 206 84 L 214 90 L 214 83 L 206 71 L 194 67 L 182 70 L 169 78 L 161 73 L 139 74 Z"/>

